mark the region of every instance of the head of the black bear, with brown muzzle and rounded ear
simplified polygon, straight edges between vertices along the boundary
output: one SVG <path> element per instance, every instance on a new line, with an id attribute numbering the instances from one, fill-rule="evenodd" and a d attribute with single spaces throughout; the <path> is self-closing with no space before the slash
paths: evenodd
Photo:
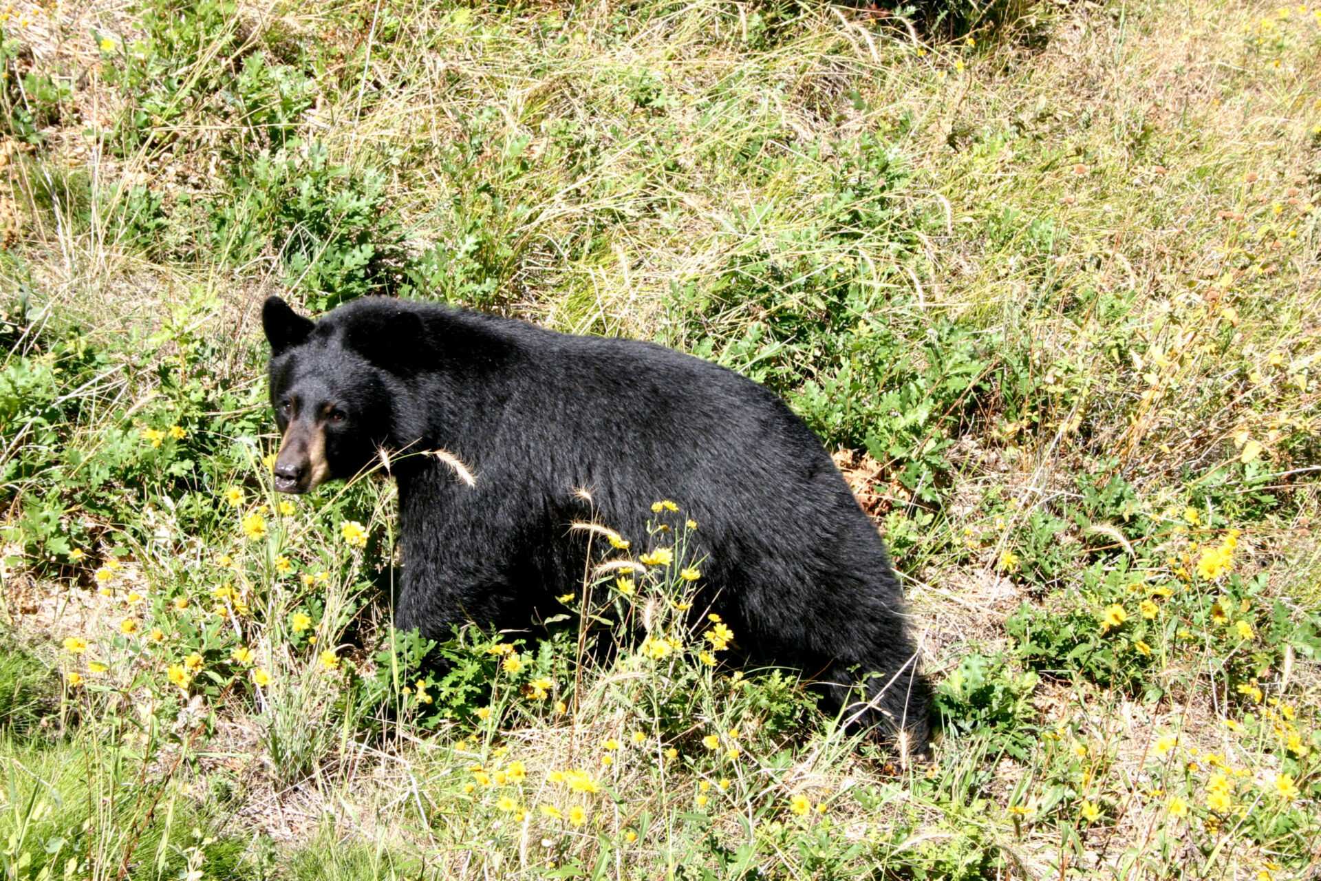
<path id="1" fill-rule="evenodd" d="M 378 461 L 391 439 L 387 371 L 346 338 L 333 316 L 312 321 L 269 297 L 262 324 L 271 343 L 271 405 L 281 437 L 275 489 L 306 493 Z"/>

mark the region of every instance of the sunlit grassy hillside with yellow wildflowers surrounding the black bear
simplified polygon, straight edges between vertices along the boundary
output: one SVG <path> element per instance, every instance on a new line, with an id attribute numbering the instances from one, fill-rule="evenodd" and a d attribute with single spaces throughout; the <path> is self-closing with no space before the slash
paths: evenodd
<path id="1" fill-rule="evenodd" d="M 4 877 L 1314 877 L 1321 7 L 952 11 L 0 11 Z M 392 486 L 271 490 L 276 292 L 783 395 L 931 757 L 683 630 L 686 499 L 548 641 L 394 634 Z"/>

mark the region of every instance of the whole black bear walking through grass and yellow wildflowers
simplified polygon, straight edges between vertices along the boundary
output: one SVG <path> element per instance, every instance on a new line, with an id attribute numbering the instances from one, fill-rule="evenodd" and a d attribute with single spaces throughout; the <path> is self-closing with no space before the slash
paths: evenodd
<path id="1" fill-rule="evenodd" d="M 834 707 L 859 701 L 847 716 L 925 746 L 930 696 L 885 547 L 771 392 L 654 343 L 433 304 L 369 297 L 312 321 L 271 297 L 262 318 L 283 436 L 275 487 L 305 493 L 391 461 L 396 626 L 526 627 L 581 584 L 571 523 L 594 515 L 645 538 L 651 503 L 679 499 L 700 524 L 701 598 L 740 651 L 804 671 Z M 473 483 L 408 454 L 429 450 Z"/>

